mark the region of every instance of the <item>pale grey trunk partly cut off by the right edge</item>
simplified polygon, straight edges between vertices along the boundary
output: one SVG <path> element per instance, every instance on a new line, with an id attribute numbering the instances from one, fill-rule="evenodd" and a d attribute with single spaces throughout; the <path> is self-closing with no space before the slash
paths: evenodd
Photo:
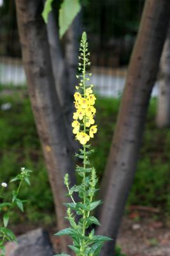
<path id="1" fill-rule="evenodd" d="M 170 127 L 170 27 L 160 61 L 157 126 Z"/>

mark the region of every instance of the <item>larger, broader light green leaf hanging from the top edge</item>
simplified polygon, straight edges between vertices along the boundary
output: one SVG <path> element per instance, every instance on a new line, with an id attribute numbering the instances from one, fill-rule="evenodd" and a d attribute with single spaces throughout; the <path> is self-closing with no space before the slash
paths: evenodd
<path id="1" fill-rule="evenodd" d="M 60 38 L 66 33 L 74 18 L 80 12 L 79 0 L 64 0 L 59 10 L 59 35 Z"/>

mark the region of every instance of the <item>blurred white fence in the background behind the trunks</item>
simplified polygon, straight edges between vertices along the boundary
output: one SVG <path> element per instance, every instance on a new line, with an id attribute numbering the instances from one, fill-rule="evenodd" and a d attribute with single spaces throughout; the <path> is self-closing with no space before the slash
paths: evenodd
<path id="1" fill-rule="evenodd" d="M 125 86 L 127 68 L 92 67 L 91 82 L 99 95 L 119 97 Z M 26 84 L 22 61 L 11 58 L 0 58 L 0 84 L 21 86 Z M 158 83 L 155 83 L 152 96 L 158 95 Z"/>

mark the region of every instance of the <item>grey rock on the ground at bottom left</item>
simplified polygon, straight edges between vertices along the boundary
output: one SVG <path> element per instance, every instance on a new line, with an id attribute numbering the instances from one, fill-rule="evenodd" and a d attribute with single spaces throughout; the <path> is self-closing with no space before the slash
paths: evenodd
<path id="1" fill-rule="evenodd" d="M 17 237 L 18 244 L 6 244 L 6 256 L 52 256 L 53 248 L 47 232 L 38 228 Z"/>

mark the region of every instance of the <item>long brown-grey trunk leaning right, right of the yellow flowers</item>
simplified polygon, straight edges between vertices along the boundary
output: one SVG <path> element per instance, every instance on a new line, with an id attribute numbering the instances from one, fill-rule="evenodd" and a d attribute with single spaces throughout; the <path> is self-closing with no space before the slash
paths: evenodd
<path id="1" fill-rule="evenodd" d="M 102 256 L 114 255 L 115 239 L 134 179 L 146 112 L 169 22 L 169 0 L 146 0 L 138 38 L 132 52 L 117 127 L 101 186 L 104 200 L 98 234 L 113 241 Z"/>

